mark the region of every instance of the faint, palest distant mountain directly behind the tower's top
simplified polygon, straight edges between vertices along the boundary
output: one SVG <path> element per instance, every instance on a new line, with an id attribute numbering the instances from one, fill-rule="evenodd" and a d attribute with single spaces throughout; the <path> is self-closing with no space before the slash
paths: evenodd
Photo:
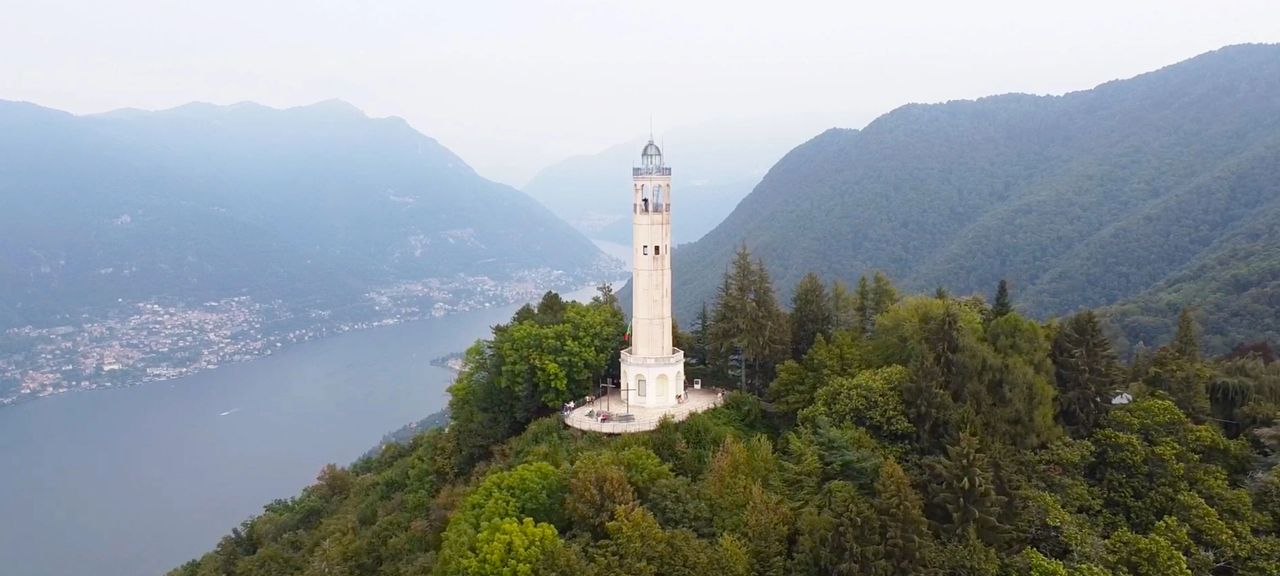
<path id="1" fill-rule="evenodd" d="M 719 224 L 806 134 L 801 125 L 759 122 L 708 123 L 663 134 L 680 202 L 675 241 L 692 242 Z M 631 166 L 640 160 L 645 141 L 635 138 L 570 157 L 541 170 L 524 191 L 591 238 L 630 243 Z"/>

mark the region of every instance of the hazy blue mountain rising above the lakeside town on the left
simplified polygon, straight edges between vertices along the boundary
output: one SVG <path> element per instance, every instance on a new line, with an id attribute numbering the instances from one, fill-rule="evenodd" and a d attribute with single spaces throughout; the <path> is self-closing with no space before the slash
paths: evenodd
<path id="1" fill-rule="evenodd" d="M 398 118 L 340 101 L 76 116 L 0 101 L 0 326 L 115 302 L 344 302 L 602 253 Z"/>

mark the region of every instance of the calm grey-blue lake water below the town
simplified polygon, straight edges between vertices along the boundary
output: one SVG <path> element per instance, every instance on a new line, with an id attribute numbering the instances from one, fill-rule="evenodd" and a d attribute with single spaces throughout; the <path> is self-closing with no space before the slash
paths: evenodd
<path id="1" fill-rule="evenodd" d="M 594 289 L 575 292 L 589 298 Z M 375 328 L 134 388 L 0 410 L 0 573 L 156 575 L 329 462 L 445 406 L 448 370 L 516 306 Z"/>

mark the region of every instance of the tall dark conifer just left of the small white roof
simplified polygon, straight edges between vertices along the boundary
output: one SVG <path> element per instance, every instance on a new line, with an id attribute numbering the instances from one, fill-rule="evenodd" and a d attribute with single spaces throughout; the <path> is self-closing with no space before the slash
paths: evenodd
<path id="1" fill-rule="evenodd" d="M 1120 361 L 1092 311 L 1071 316 L 1050 351 L 1057 383 L 1056 417 L 1074 438 L 1088 436 L 1120 383 Z"/>

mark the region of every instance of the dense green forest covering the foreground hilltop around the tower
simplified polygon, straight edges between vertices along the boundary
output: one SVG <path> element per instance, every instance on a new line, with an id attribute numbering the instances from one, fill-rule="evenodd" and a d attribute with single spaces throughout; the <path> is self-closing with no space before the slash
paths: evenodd
<path id="1" fill-rule="evenodd" d="M 466 353 L 452 422 L 329 466 L 174 576 L 1280 573 L 1280 364 L 1190 311 L 1121 362 L 1092 311 L 809 274 L 740 248 L 676 340 L 723 406 L 643 434 L 556 413 L 623 316 L 547 294 Z"/>

